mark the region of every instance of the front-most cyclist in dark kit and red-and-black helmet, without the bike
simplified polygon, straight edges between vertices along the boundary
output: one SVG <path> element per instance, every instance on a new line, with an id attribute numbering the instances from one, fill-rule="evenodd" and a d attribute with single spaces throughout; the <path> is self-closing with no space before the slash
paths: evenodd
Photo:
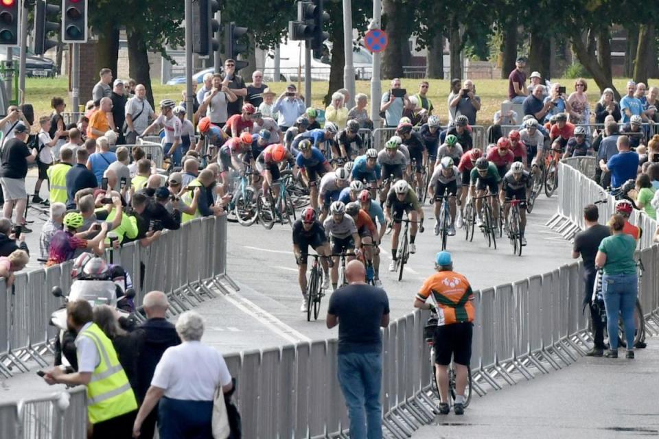
<path id="1" fill-rule="evenodd" d="M 297 262 L 297 282 L 302 290 L 302 306 L 300 311 L 307 310 L 307 255 L 311 246 L 316 253 L 321 255 L 321 265 L 323 265 L 323 289 L 329 288 L 329 242 L 325 235 L 325 229 L 316 219 L 316 211 L 311 207 L 304 209 L 296 222 L 293 224 L 293 254 Z"/>

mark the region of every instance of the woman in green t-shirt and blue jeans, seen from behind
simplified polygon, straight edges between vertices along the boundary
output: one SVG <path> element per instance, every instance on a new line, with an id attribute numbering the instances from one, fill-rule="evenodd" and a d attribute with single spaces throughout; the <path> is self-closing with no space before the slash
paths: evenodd
<path id="1" fill-rule="evenodd" d="M 595 265 L 603 269 L 602 292 L 606 307 L 607 330 L 610 349 L 605 357 L 618 357 L 618 313 L 623 316 L 627 338 L 627 358 L 634 358 L 634 307 L 636 306 L 637 284 L 634 250 L 636 240 L 623 233 L 625 218 L 613 215 L 609 220 L 611 236 L 599 244 Z M 613 335 L 612 335 L 613 334 Z"/>

